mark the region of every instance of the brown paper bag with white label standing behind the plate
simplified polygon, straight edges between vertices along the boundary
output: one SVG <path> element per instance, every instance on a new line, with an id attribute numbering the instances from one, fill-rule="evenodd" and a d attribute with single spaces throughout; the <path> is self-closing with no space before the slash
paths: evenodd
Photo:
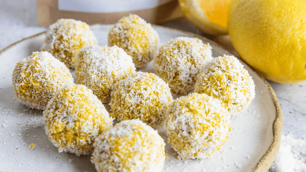
<path id="1" fill-rule="evenodd" d="M 183 17 L 177 0 L 37 0 L 38 22 L 44 27 L 60 18 L 114 24 L 129 14 L 152 24 Z"/>

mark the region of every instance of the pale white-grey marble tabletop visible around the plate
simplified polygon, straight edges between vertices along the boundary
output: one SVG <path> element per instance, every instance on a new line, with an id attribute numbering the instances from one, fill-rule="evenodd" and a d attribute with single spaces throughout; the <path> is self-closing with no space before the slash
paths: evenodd
<path id="1" fill-rule="evenodd" d="M 162 25 L 206 36 L 181 20 Z M 46 30 L 47 28 L 41 27 L 37 22 L 35 0 L 0 0 L 0 50 Z M 269 83 L 282 108 L 283 135 L 291 133 L 296 139 L 306 140 L 306 82 L 278 84 L 270 81 Z"/>

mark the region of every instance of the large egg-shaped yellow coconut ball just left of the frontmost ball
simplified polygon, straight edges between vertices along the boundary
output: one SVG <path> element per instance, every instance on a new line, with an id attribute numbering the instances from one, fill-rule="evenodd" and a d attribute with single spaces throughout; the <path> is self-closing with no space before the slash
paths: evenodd
<path id="1" fill-rule="evenodd" d="M 101 101 L 84 85 L 66 85 L 43 111 L 49 140 L 59 152 L 76 155 L 93 151 L 95 138 L 112 127 L 112 121 Z"/>

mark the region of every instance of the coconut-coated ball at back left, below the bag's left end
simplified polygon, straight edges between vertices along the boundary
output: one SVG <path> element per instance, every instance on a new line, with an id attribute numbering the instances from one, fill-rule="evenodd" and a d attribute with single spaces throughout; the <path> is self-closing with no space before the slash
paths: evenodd
<path id="1" fill-rule="evenodd" d="M 50 52 L 55 58 L 64 62 L 68 68 L 74 68 L 79 50 L 96 43 L 96 37 L 85 22 L 58 19 L 49 26 L 45 43 L 40 49 Z"/>

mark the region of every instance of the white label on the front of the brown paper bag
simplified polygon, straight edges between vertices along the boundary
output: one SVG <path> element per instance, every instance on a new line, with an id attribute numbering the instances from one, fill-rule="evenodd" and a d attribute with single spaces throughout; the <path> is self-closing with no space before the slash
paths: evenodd
<path id="1" fill-rule="evenodd" d="M 116 13 L 154 8 L 174 0 L 58 0 L 58 10 Z"/>

